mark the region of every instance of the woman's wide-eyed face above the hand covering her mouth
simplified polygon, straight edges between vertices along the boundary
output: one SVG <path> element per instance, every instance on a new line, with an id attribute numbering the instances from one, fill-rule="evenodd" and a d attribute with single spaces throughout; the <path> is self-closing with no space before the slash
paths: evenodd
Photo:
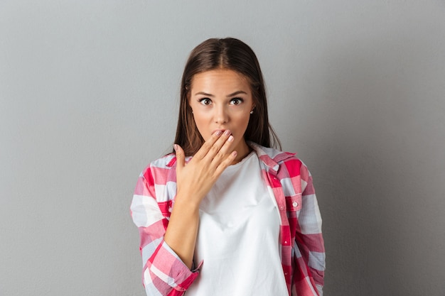
<path id="1" fill-rule="evenodd" d="M 204 141 L 215 131 L 230 130 L 239 158 L 249 152 L 244 133 L 254 108 L 250 84 L 232 70 L 210 70 L 193 77 L 188 102 Z M 238 158 L 238 157 L 237 157 Z"/>

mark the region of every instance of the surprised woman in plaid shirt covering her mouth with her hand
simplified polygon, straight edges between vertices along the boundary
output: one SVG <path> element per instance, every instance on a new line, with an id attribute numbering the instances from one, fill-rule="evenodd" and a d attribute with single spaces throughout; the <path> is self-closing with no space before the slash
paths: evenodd
<path id="1" fill-rule="evenodd" d="M 132 201 L 147 295 L 322 295 L 312 177 L 277 145 L 252 49 L 234 38 L 198 45 L 173 153 L 141 173 Z"/>

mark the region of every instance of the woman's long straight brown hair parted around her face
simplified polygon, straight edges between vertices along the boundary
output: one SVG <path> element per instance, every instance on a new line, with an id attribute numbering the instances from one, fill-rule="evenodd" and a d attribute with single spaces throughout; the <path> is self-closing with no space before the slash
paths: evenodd
<path id="1" fill-rule="evenodd" d="M 245 140 L 281 149 L 277 134 L 269 124 L 266 90 L 257 57 L 249 45 L 235 38 L 211 38 L 192 50 L 181 80 L 181 102 L 175 143 L 183 148 L 186 155 L 194 155 L 203 145 L 203 137 L 195 125 L 188 104 L 188 92 L 194 75 L 221 68 L 240 73 L 252 89 L 255 108 L 245 131 Z"/>

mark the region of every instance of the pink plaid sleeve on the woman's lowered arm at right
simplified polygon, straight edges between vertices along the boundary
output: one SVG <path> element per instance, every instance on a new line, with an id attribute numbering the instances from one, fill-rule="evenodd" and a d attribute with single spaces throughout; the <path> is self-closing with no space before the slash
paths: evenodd
<path id="1" fill-rule="evenodd" d="M 302 207 L 298 216 L 296 243 L 299 245 L 302 258 L 309 267 L 318 295 L 322 296 L 326 256 L 321 234 L 321 214 L 313 188 L 312 175 L 303 163 L 300 177 Z"/>

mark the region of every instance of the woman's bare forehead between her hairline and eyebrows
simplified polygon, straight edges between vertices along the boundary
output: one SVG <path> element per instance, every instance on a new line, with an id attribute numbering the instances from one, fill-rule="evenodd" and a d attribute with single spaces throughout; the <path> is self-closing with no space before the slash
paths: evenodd
<path id="1" fill-rule="evenodd" d="M 239 72 L 227 69 L 210 70 L 195 74 L 191 81 L 191 88 L 224 89 L 238 88 L 250 90 L 247 78 Z"/>

